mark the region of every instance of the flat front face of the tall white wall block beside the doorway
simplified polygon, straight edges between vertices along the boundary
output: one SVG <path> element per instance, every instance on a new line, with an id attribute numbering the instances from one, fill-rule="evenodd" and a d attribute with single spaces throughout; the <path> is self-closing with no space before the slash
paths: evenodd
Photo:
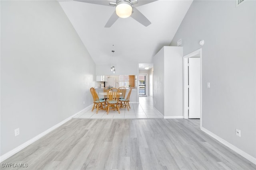
<path id="1" fill-rule="evenodd" d="M 183 117 L 182 47 L 164 47 L 164 117 Z"/>

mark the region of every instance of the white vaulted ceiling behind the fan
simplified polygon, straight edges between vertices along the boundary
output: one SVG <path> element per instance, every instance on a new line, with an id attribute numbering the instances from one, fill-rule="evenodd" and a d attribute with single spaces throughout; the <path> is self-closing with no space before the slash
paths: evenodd
<path id="1" fill-rule="evenodd" d="M 118 18 L 109 28 L 104 26 L 115 7 L 69 0 L 59 3 L 94 62 L 108 64 L 113 59 L 152 63 L 152 57 L 172 41 L 192 0 L 158 0 L 138 6 L 150 20 L 149 26 L 129 17 Z"/>

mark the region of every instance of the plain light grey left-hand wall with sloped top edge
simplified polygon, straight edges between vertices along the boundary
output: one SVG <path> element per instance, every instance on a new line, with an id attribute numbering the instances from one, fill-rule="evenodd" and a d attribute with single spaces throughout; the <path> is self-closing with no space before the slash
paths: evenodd
<path id="1" fill-rule="evenodd" d="M 1 1 L 1 156 L 92 104 L 94 75 L 57 1 Z"/>

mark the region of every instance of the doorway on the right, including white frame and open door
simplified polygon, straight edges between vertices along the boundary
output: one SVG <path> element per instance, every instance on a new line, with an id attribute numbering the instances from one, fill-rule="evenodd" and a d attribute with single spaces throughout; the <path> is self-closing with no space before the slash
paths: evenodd
<path id="1" fill-rule="evenodd" d="M 184 119 L 200 118 L 202 125 L 202 49 L 183 57 Z"/>

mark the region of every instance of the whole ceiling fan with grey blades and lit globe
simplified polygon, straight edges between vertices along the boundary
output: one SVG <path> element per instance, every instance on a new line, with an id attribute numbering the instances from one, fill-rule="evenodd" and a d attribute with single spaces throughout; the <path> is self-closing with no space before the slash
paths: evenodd
<path id="1" fill-rule="evenodd" d="M 128 18 L 131 16 L 134 20 L 138 21 L 144 26 L 148 26 L 151 22 L 135 7 L 155 2 L 157 0 L 74 0 L 79 2 L 86 2 L 90 4 L 98 4 L 105 6 L 115 6 L 116 10 L 110 16 L 105 27 L 111 27 L 114 22 L 120 18 Z"/>

